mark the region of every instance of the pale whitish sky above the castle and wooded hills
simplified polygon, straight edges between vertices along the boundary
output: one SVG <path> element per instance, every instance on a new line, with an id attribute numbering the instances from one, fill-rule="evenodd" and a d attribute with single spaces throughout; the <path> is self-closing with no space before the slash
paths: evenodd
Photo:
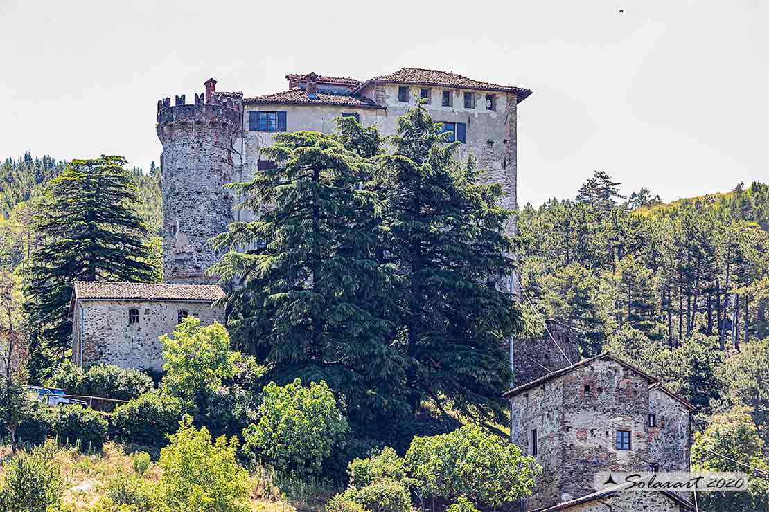
<path id="1" fill-rule="evenodd" d="M 619 13 L 624 9 L 624 14 Z M 159 161 L 161 97 L 433 68 L 534 91 L 518 200 L 596 168 L 663 200 L 769 181 L 769 2 L 0 0 L 0 157 Z"/>

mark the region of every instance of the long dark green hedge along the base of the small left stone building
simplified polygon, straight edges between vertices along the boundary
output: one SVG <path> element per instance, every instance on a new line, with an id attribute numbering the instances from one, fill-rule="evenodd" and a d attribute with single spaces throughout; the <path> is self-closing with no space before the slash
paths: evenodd
<path id="1" fill-rule="evenodd" d="M 88 370 L 66 361 L 46 385 L 62 388 L 68 395 L 132 400 L 152 389 L 152 378 L 138 370 L 115 365 L 93 365 Z"/>

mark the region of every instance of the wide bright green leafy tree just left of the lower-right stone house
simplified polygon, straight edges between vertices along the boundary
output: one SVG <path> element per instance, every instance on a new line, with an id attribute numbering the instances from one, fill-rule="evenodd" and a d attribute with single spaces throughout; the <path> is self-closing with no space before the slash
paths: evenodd
<path id="1" fill-rule="evenodd" d="M 528 496 L 541 472 L 534 457 L 473 424 L 449 434 L 416 437 L 405 458 L 421 496 L 465 496 L 488 507 Z"/>

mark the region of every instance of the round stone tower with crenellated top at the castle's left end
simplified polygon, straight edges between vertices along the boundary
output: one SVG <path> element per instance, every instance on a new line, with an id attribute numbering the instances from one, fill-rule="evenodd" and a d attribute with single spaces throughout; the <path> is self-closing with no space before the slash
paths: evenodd
<path id="1" fill-rule="evenodd" d="M 238 94 L 217 94 L 205 82 L 195 104 L 185 96 L 158 101 L 157 132 L 163 145 L 163 271 L 171 284 L 218 281 L 206 270 L 219 259 L 210 239 L 233 220 L 232 197 L 223 186 L 240 166 L 242 102 Z"/>

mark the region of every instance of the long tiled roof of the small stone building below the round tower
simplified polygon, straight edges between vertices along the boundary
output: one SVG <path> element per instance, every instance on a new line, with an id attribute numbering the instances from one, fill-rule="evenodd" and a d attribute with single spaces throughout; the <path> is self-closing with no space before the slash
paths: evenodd
<path id="1" fill-rule="evenodd" d="M 76 281 L 72 300 L 135 299 L 214 302 L 225 296 L 217 285 L 166 285 L 151 282 Z"/>

